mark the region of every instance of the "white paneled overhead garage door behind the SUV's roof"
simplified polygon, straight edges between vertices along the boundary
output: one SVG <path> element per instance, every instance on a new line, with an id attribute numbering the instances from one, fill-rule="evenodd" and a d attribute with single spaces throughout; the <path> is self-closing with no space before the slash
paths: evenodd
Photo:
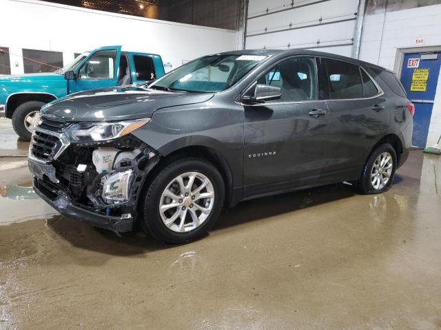
<path id="1" fill-rule="evenodd" d="M 316 0 L 295 0 L 294 7 L 312 2 L 316 2 Z M 354 13 L 358 10 L 357 0 L 329 0 L 276 12 L 287 8 L 291 8 L 289 0 L 249 0 L 246 48 L 266 47 L 287 50 L 289 48 L 314 47 L 314 50 L 322 52 L 351 56 L 351 39 L 356 23 Z M 267 9 L 268 12 L 274 13 L 252 18 L 259 14 L 265 14 Z M 321 25 L 300 28 L 305 25 L 316 25 L 320 23 L 320 18 L 322 19 Z M 331 23 L 346 19 L 352 20 Z M 291 28 L 300 29 L 252 36 L 253 34 L 265 33 L 265 28 L 267 32 L 288 29 L 290 23 Z M 320 40 L 320 44 L 317 44 L 318 40 Z M 288 44 L 290 47 L 287 47 Z M 341 44 L 345 44 L 345 46 L 332 47 L 332 45 Z M 316 48 L 317 45 L 323 48 Z"/>

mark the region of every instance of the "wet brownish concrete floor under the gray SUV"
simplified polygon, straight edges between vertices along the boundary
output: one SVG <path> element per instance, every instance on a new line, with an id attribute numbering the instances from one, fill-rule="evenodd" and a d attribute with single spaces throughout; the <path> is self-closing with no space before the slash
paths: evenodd
<path id="1" fill-rule="evenodd" d="M 246 201 L 167 246 L 60 217 L 4 120 L 0 148 L 0 329 L 441 329 L 440 156 L 382 195 Z"/>

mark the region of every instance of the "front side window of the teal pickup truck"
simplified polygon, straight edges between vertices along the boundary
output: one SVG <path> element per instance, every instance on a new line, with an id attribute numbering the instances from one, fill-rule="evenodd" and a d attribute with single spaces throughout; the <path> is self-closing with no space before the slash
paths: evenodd
<path id="1" fill-rule="evenodd" d="M 99 50 L 86 61 L 79 71 L 80 79 L 113 79 L 116 50 Z"/>

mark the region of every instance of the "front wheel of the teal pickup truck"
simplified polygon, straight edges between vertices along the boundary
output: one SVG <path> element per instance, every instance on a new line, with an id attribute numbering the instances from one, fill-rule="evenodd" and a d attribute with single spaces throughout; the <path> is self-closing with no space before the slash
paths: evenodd
<path id="1" fill-rule="evenodd" d="M 44 104 L 40 101 L 24 102 L 12 113 L 12 127 L 21 140 L 30 141 L 34 122 L 40 117 L 40 109 Z"/>

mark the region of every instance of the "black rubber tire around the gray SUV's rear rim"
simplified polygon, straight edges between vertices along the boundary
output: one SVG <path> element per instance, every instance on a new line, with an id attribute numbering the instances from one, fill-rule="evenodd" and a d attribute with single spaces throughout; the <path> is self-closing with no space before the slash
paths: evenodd
<path id="1" fill-rule="evenodd" d="M 371 182 L 371 173 L 373 170 L 373 164 L 375 163 L 377 157 L 382 153 L 389 153 L 392 156 L 392 172 L 389 177 L 389 180 L 387 181 L 387 184 L 385 184 L 385 186 L 380 189 L 376 189 L 373 187 L 373 184 Z M 362 193 L 363 195 L 372 195 L 372 194 L 379 194 L 381 192 L 385 192 L 389 190 L 392 185 L 393 175 L 395 175 L 396 168 L 397 168 L 397 154 L 395 149 L 389 143 L 380 144 L 380 146 L 377 146 L 375 150 L 371 153 L 369 158 L 367 159 L 365 167 L 363 168 L 362 171 L 362 175 L 356 185 L 358 192 Z"/>

